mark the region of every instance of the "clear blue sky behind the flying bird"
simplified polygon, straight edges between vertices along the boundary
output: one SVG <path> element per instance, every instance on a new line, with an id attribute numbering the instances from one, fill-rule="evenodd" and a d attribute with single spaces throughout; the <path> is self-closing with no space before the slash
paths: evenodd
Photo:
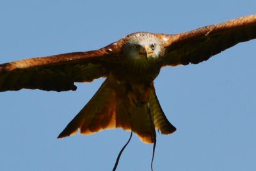
<path id="1" fill-rule="evenodd" d="M 1 1 L 0 63 L 104 47 L 135 31 L 179 33 L 256 13 L 256 1 Z M 173 135 L 157 134 L 155 170 L 256 170 L 256 41 L 155 80 Z M 129 132 L 57 139 L 103 79 L 65 93 L 0 93 L 0 170 L 112 170 Z M 118 170 L 150 170 L 132 137 Z"/>

